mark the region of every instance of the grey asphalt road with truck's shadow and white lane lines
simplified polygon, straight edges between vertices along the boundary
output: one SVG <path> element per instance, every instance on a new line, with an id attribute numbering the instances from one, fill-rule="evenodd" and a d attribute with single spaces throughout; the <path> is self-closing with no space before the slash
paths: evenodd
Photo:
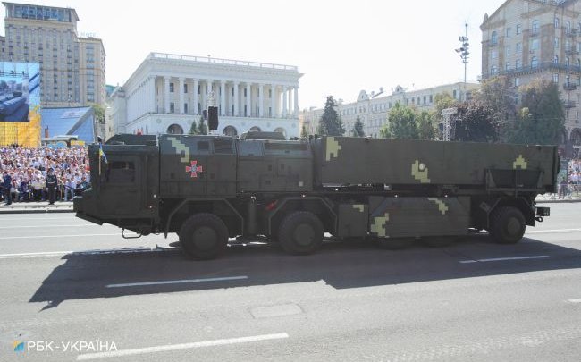
<path id="1" fill-rule="evenodd" d="M 0 215 L 0 360 L 579 361 L 581 203 L 550 206 L 514 246 L 251 244 L 207 262 L 174 235 Z"/>

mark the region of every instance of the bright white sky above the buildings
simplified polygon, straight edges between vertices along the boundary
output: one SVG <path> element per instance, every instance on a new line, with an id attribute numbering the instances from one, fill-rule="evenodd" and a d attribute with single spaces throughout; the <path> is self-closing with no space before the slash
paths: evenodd
<path id="1" fill-rule="evenodd" d="M 97 33 L 106 83 L 123 85 L 151 52 L 296 65 L 299 107 L 360 90 L 387 93 L 464 80 L 454 51 L 470 42 L 467 80 L 481 72 L 484 13 L 504 0 L 22 0 L 74 8 L 81 33 Z M 0 6 L 4 19 L 4 6 Z M 4 35 L 4 24 L 0 29 Z"/>

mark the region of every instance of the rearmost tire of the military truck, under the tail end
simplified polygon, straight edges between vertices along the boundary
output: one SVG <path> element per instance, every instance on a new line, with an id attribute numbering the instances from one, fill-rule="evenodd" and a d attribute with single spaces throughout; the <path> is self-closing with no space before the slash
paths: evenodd
<path id="1" fill-rule="evenodd" d="M 502 206 L 491 215 L 488 232 L 499 244 L 516 244 L 523 238 L 525 228 L 525 216 L 517 207 Z"/>

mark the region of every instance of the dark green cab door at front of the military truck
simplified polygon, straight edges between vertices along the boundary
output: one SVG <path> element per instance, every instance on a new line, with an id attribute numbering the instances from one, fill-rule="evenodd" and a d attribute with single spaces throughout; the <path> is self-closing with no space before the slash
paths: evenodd
<path id="1" fill-rule="evenodd" d="M 102 160 L 100 165 L 99 210 L 112 217 L 137 214 L 145 180 L 139 156 L 109 152 L 106 157 L 107 162 Z"/>

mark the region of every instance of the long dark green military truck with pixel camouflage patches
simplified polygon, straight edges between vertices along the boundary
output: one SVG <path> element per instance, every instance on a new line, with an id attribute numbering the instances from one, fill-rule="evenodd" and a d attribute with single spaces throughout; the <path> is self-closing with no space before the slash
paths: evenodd
<path id="1" fill-rule="evenodd" d="M 309 254 L 325 232 L 386 248 L 483 230 L 516 243 L 550 214 L 535 197 L 554 192 L 559 172 L 553 146 L 409 139 L 117 135 L 88 153 L 78 217 L 177 232 L 198 259 L 257 236 Z"/>

